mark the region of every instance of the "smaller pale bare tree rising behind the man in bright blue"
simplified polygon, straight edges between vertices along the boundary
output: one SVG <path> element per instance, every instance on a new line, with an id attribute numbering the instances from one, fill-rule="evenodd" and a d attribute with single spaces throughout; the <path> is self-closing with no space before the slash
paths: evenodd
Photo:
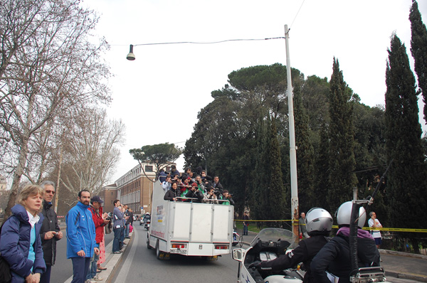
<path id="1" fill-rule="evenodd" d="M 64 140 L 63 187 L 77 196 L 86 189 L 98 193 L 119 161 L 117 146 L 124 142 L 125 125 L 107 119 L 105 110 L 79 110 Z"/>

